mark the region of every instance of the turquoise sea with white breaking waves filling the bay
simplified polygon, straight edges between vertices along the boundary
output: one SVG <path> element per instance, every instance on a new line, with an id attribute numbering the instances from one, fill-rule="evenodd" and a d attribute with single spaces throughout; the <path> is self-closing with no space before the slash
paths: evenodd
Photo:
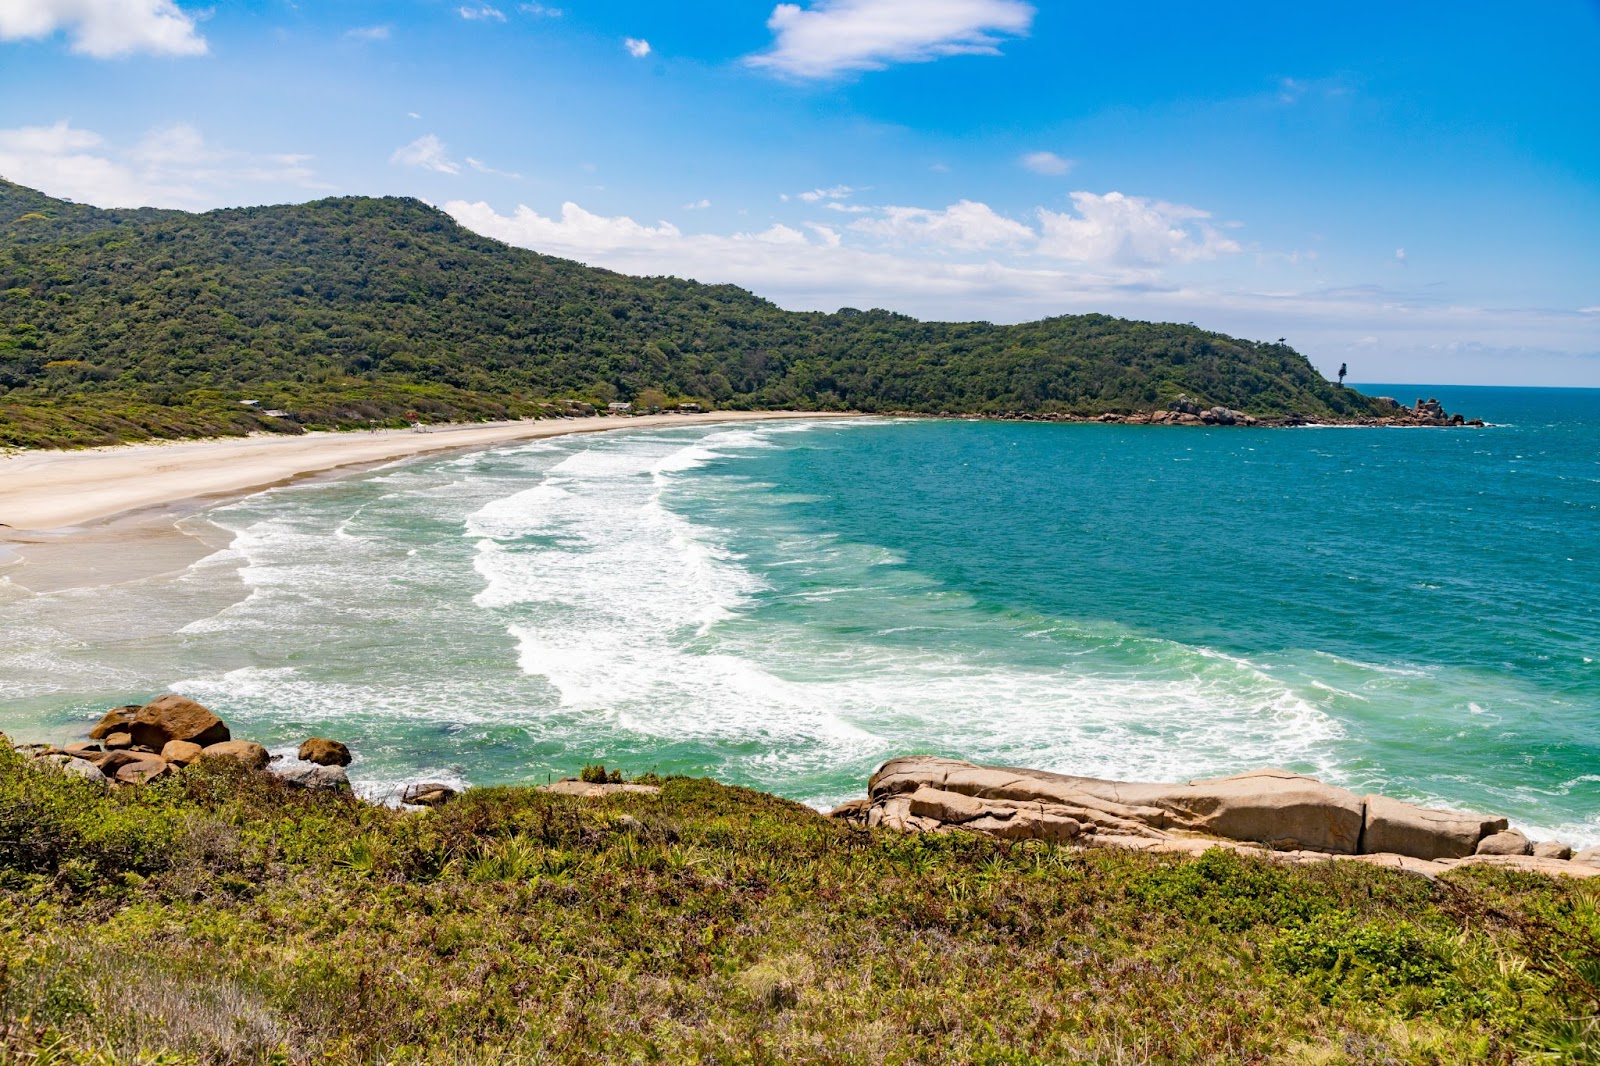
<path id="1" fill-rule="evenodd" d="M 1494 426 L 758 423 L 302 482 L 184 519 L 234 541 L 178 575 L 0 579 L 0 730 L 178 690 L 373 795 L 1280 765 L 1600 842 L 1600 391 L 1365 389 Z"/>

